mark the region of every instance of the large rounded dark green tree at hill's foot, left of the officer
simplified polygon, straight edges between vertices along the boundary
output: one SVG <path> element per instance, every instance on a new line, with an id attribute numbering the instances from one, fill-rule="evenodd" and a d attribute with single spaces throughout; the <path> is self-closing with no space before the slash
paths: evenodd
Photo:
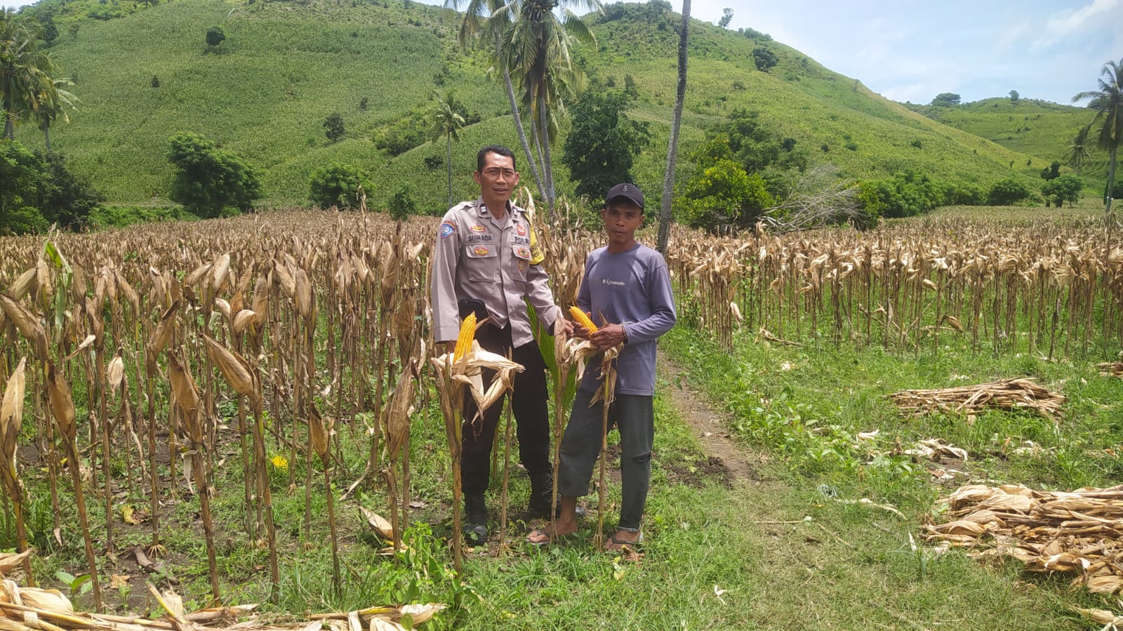
<path id="1" fill-rule="evenodd" d="M 171 199 L 203 218 L 213 218 L 228 208 L 250 210 L 262 196 L 257 172 L 241 157 L 194 134 L 181 132 L 170 139 L 168 159 L 175 167 Z"/>

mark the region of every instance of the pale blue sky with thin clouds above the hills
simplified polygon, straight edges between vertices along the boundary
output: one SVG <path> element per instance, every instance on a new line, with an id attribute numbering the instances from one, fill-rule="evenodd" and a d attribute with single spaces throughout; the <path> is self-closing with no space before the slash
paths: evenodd
<path id="1" fill-rule="evenodd" d="M 725 7 L 730 28 L 767 33 L 896 101 L 1016 90 L 1068 103 L 1123 58 L 1123 0 L 693 0 L 691 15 L 716 22 Z"/>

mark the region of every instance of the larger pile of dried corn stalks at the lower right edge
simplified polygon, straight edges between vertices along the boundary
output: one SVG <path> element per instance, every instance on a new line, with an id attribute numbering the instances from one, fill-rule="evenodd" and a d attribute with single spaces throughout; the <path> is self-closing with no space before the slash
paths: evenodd
<path id="1" fill-rule="evenodd" d="M 1092 592 L 1123 587 L 1123 485 L 1049 492 L 973 484 L 948 501 L 951 521 L 928 524 L 929 541 L 987 547 L 976 556 L 1014 557 L 1029 571 L 1075 573 L 1074 583 Z"/>

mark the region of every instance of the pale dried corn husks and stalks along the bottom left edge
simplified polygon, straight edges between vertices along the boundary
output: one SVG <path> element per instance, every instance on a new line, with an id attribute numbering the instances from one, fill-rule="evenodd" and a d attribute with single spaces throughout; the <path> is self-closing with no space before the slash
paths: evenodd
<path id="1" fill-rule="evenodd" d="M 19 567 L 29 552 L 0 555 L 0 574 Z M 347 613 L 311 614 L 307 620 L 257 614 L 257 605 L 219 606 L 186 613 L 173 592 L 153 596 L 166 615 L 159 620 L 74 611 L 57 589 L 21 587 L 15 580 L 0 582 L 0 629 L 3 631 L 404 631 L 428 621 L 445 605 L 412 604 L 375 606 Z"/>

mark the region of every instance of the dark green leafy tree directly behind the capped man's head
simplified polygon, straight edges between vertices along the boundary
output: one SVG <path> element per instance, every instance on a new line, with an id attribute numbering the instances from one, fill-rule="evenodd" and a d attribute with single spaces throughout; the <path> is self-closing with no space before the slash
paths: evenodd
<path id="1" fill-rule="evenodd" d="M 577 182 L 577 194 L 596 198 L 620 182 L 633 182 L 636 155 L 650 141 L 647 122 L 628 118 L 627 94 L 585 90 L 569 108 L 573 128 L 562 162 Z"/>

